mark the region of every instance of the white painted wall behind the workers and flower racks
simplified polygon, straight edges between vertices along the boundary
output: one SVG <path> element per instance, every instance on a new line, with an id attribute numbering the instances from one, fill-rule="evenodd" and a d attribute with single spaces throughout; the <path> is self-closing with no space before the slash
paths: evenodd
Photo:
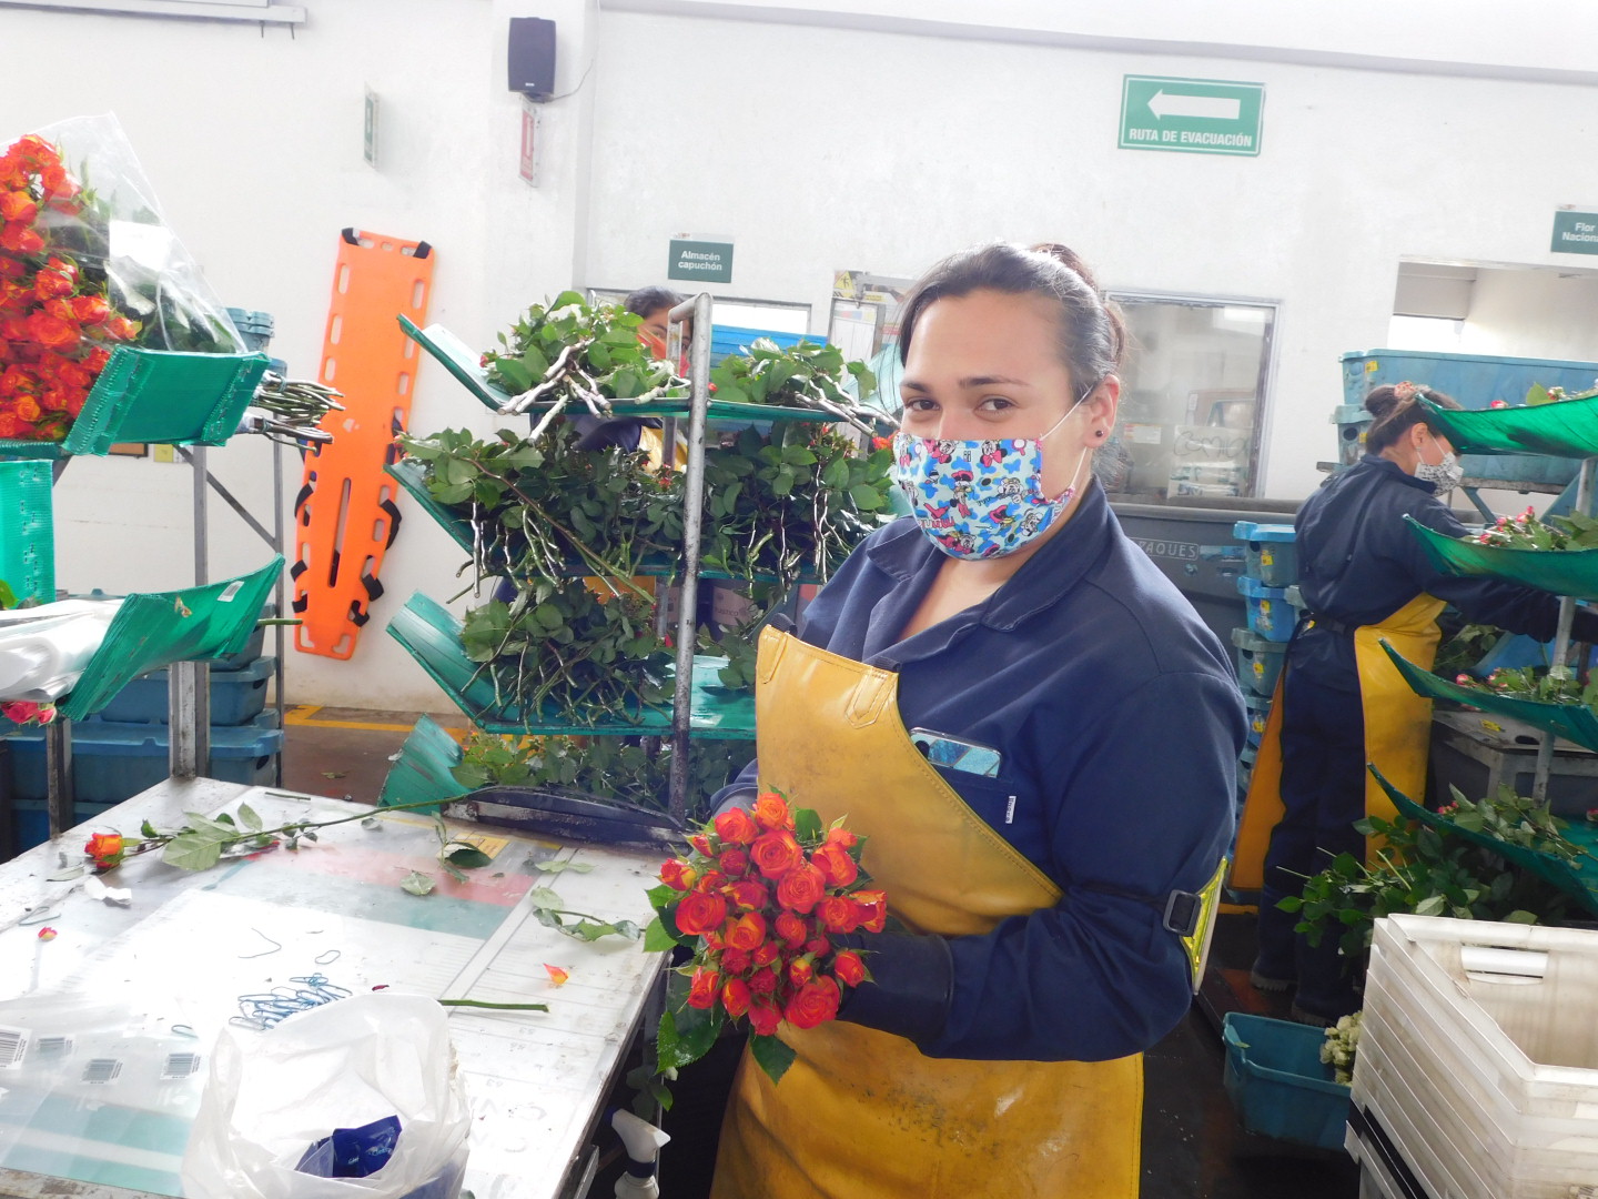
<path id="1" fill-rule="evenodd" d="M 815 331 L 836 269 L 916 275 L 976 240 L 1048 237 L 1106 286 L 1280 302 L 1264 481 L 1293 497 L 1331 452 L 1339 353 L 1385 339 L 1401 256 L 1584 265 L 1550 254 L 1552 216 L 1598 208 L 1598 10 L 1579 0 L 307 3 L 292 35 L 0 6 L 0 46 L 24 51 L 8 54 L 0 136 L 115 110 L 217 291 L 275 313 L 273 352 L 307 376 L 352 224 L 433 243 L 431 318 L 484 345 L 570 283 L 663 281 L 673 233 L 730 233 L 721 291 L 810 304 Z M 543 109 L 537 189 L 516 176 L 510 16 L 558 22 L 558 90 L 575 90 Z M 1264 83 L 1262 153 L 1115 149 L 1125 74 Z M 382 98 L 376 171 L 366 86 Z M 1528 352 L 1536 326 L 1536 353 L 1598 358 L 1590 323 L 1502 301 L 1472 313 L 1493 352 Z M 423 366 L 412 428 L 460 424 L 494 422 Z M 213 462 L 267 507 L 260 446 Z M 75 462 L 62 582 L 185 584 L 187 488 L 181 467 Z M 213 507 L 213 574 L 257 564 Z M 292 655 L 291 699 L 441 707 L 382 625 L 412 590 L 449 595 L 455 561 L 409 520 L 356 659 Z"/>

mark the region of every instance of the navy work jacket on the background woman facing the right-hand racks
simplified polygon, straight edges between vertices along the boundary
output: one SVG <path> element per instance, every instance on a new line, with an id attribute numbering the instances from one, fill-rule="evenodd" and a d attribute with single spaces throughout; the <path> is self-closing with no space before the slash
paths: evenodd
<path id="1" fill-rule="evenodd" d="M 1405 516 L 1448 537 L 1467 534 L 1435 491 L 1397 462 L 1366 454 L 1304 500 L 1294 528 L 1299 592 L 1309 611 L 1358 628 L 1381 623 L 1427 593 L 1451 603 L 1467 620 L 1552 639 L 1560 619 L 1556 596 L 1501 579 L 1441 574 L 1432 566 Z M 1598 636 L 1598 615 L 1579 611 L 1576 633 L 1579 639 Z M 1334 628 L 1315 627 L 1299 636 L 1293 668 L 1309 670 L 1339 691 L 1360 686 L 1354 638 Z"/>

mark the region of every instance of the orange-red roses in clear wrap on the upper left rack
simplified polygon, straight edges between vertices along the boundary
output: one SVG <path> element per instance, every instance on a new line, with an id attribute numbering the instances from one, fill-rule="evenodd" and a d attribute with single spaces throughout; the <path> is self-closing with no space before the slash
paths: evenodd
<path id="1" fill-rule="evenodd" d="M 93 195 L 61 152 L 29 134 L 0 155 L 0 438 L 61 441 L 110 349 L 137 321 L 115 312 L 104 270 L 85 272 L 58 246 Z M 93 278 L 91 278 L 93 277 Z"/>

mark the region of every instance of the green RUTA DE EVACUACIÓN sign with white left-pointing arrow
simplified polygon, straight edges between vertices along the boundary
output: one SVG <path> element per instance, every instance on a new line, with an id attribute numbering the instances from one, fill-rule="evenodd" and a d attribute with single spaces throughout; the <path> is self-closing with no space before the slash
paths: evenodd
<path id="1" fill-rule="evenodd" d="M 1125 75 L 1120 149 L 1259 153 L 1264 83 Z"/>

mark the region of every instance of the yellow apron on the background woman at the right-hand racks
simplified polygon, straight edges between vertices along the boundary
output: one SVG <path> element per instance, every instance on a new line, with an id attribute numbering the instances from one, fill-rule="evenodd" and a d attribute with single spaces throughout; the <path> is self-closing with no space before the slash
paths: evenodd
<path id="1" fill-rule="evenodd" d="M 1365 715 L 1365 761 L 1376 763 L 1405 795 L 1425 790 L 1425 764 L 1432 745 L 1432 700 L 1416 695 L 1403 675 L 1382 652 L 1387 641 L 1403 657 L 1424 670 L 1432 668 L 1441 630 L 1437 617 L 1443 601 L 1417 595 L 1379 625 L 1354 630 L 1354 662 L 1360 671 L 1360 708 Z M 1282 820 L 1282 684 L 1277 679 L 1270 700 L 1270 716 L 1259 742 L 1254 772 L 1248 780 L 1243 820 L 1237 831 L 1237 858 L 1232 862 L 1232 886 L 1259 890 L 1266 878 L 1266 849 L 1270 831 Z M 1400 782 L 1401 780 L 1401 782 Z M 1365 774 L 1365 814 L 1390 820 L 1393 803 L 1369 772 Z M 1366 854 L 1377 846 L 1366 838 Z"/>

